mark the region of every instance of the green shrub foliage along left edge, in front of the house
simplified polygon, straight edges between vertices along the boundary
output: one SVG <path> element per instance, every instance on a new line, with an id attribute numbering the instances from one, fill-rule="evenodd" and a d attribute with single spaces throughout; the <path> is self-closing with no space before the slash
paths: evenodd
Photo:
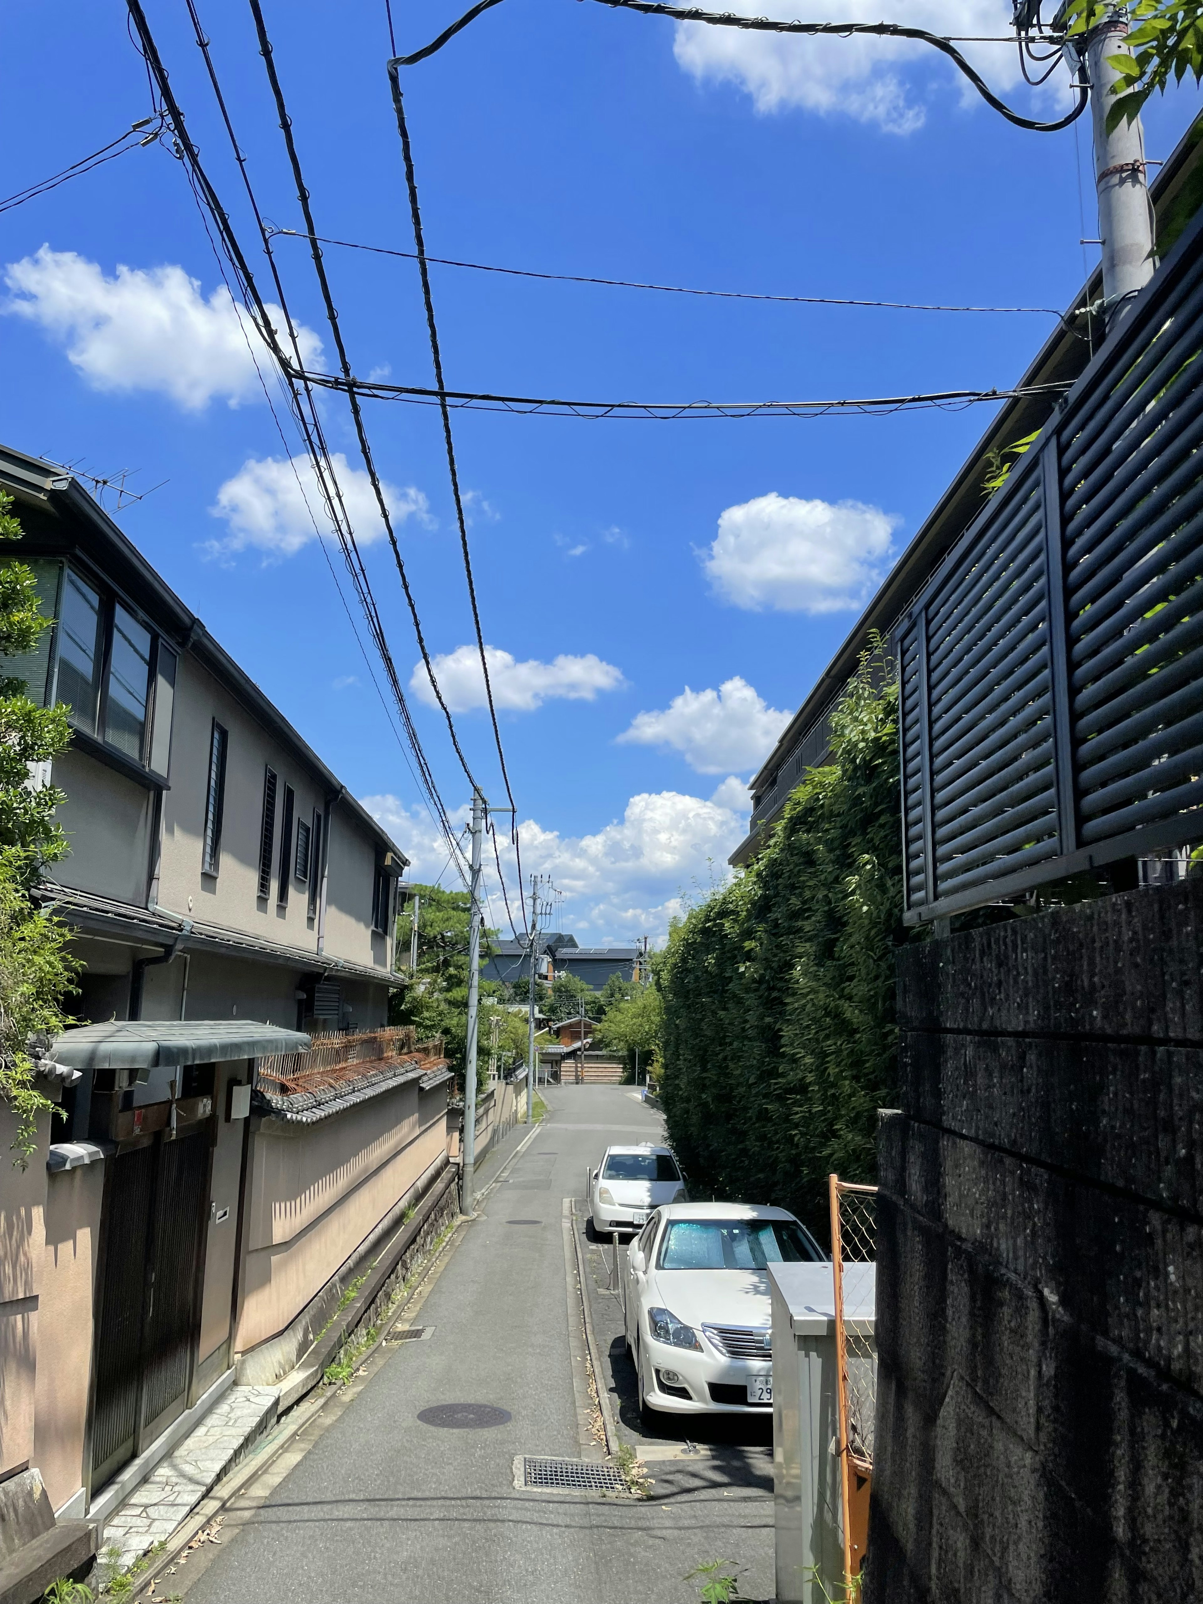
<path id="1" fill-rule="evenodd" d="M 11 508 L 11 497 L 0 496 L 0 541 L 21 537 Z M 13 558 L 0 563 L 0 656 L 11 666 L 37 648 L 50 626 L 29 566 Z M 66 926 L 37 909 L 29 895 L 45 866 L 67 853 L 55 820 L 66 799 L 40 784 L 37 767 L 69 739 L 66 707 L 38 707 L 21 677 L 0 677 L 0 1097 L 16 1116 L 13 1150 L 21 1166 L 34 1150 L 38 1115 L 55 1107 L 34 1084 L 30 1038 L 66 1028 L 63 999 L 79 970 L 67 953 Z"/>

